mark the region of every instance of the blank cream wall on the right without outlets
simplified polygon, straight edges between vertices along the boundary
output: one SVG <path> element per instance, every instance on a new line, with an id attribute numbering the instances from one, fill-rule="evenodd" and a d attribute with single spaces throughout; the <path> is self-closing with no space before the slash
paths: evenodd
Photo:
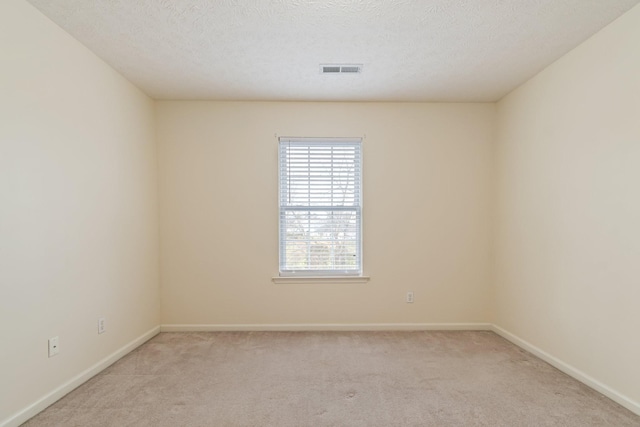
<path id="1" fill-rule="evenodd" d="M 495 323 L 636 405 L 638 41 L 640 6 L 499 102 L 495 222 Z"/>

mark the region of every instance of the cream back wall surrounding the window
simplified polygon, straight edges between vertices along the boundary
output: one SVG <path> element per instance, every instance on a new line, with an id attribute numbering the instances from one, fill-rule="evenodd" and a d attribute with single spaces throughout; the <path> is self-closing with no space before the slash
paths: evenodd
<path id="1" fill-rule="evenodd" d="M 162 322 L 488 321 L 494 108 L 159 102 Z M 272 283 L 275 134 L 365 136 L 369 283 Z"/>

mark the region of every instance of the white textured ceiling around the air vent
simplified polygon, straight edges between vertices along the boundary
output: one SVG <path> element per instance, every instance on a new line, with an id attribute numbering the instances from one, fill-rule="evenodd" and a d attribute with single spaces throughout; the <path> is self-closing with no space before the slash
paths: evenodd
<path id="1" fill-rule="evenodd" d="M 156 99 L 314 101 L 494 101 L 640 2 L 28 1 Z"/>

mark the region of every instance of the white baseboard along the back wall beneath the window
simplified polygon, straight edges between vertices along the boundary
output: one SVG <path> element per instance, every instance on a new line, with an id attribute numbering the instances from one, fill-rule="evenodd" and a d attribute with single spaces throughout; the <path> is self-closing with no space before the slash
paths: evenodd
<path id="1" fill-rule="evenodd" d="M 490 331 L 490 323 L 274 323 L 160 325 L 161 332 L 222 331 Z"/>

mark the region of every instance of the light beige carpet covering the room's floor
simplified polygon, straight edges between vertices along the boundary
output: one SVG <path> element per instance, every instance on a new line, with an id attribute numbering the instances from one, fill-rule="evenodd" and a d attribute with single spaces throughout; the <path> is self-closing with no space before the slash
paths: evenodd
<path id="1" fill-rule="evenodd" d="M 163 333 L 35 426 L 640 426 L 492 332 Z"/>

